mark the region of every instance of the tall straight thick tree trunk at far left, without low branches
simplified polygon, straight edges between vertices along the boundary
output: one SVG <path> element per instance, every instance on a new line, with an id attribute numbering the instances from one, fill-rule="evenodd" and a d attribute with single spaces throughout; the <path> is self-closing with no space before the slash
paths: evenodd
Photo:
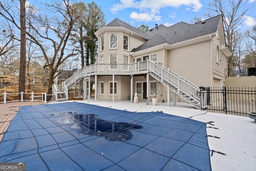
<path id="1" fill-rule="evenodd" d="M 26 19 L 25 2 L 20 0 L 20 74 L 19 74 L 19 93 L 25 92 L 26 85 Z"/>

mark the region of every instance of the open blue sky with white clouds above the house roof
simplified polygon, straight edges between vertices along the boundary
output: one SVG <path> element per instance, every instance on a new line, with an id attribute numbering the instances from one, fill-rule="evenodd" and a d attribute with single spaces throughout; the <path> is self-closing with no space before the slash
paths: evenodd
<path id="1" fill-rule="evenodd" d="M 208 19 L 208 4 L 212 0 L 82 0 L 94 1 L 104 12 L 106 24 L 118 18 L 134 27 L 142 24 L 154 28 L 155 24 L 171 26 L 178 22 L 191 23 L 194 17 Z M 227 2 L 228 0 L 226 0 Z M 248 6 L 254 8 L 246 14 L 242 30 L 256 25 L 256 0 L 248 0 Z M 226 9 L 230 8 L 228 4 Z"/>

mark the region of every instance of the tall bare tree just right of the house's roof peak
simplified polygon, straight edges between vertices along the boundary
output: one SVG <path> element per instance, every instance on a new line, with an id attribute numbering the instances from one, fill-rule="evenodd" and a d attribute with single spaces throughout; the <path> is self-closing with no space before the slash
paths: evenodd
<path id="1" fill-rule="evenodd" d="M 253 6 L 248 5 L 249 0 L 213 0 L 208 4 L 209 14 L 213 17 L 216 14 L 221 14 L 224 22 L 224 32 L 226 43 L 231 56 L 228 58 L 228 75 L 232 69 L 232 59 L 234 56 L 233 35 L 240 29 L 240 25 L 246 20 L 246 15 L 253 9 Z M 226 3 L 226 4 L 225 4 Z"/>

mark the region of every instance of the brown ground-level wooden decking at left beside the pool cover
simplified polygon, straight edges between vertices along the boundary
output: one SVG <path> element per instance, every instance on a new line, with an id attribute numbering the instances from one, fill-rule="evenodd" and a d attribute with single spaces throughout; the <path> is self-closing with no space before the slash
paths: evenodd
<path id="1" fill-rule="evenodd" d="M 10 125 L 10 121 L 16 116 L 20 106 L 45 104 L 42 101 L 16 101 L 0 103 L 0 141 L 4 137 L 4 132 Z"/>

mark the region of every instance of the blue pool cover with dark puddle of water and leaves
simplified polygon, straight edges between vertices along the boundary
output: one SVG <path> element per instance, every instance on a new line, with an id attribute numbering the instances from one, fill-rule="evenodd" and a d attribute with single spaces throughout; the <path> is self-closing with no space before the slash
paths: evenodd
<path id="1" fill-rule="evenodd" d="M 0 162 L 28 171 L 211 171 L 206 124 L 78 102 L 24 106 L 0 142 Z"/>

